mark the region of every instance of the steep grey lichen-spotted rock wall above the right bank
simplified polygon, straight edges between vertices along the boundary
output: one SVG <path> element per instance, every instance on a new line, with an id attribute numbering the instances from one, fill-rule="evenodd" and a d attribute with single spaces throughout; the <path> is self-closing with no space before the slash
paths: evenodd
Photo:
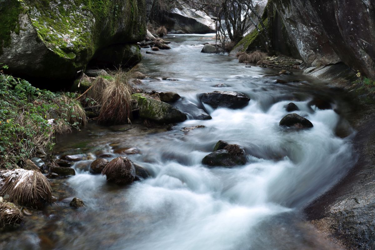
<path id="1" fill-rule="evenodd" d="M 284 22 L 306 65 L 344 62 L 375 78 L 374 1 L 276 0 Z"/>

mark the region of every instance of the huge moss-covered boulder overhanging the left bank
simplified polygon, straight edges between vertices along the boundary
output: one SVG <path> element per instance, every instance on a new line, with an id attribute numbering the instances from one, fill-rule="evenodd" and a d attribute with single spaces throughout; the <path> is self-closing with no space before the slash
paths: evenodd
<path id="1" fill-rule="evenodd" d="M 1 0 L 0 61 L 13 74 L 72 79 L 101 49 L 142 40 L 146 20 L 145 0 Z"/>

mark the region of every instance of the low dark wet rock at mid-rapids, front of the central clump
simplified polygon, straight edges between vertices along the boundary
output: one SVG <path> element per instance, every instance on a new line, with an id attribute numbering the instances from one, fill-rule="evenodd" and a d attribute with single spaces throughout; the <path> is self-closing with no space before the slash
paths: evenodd
<path id="1" fill-rule="evenodd" d="M 204 165 L 208 165 L 211 167 L 214 166 L 238 166 L 238 165 L 245 165 L 246 164 L 246 157 L 241 155 L 234 155 L 230 154 L 227 150 L 217 150 L 211 154 L 205 156 L 202 160 Z"/>

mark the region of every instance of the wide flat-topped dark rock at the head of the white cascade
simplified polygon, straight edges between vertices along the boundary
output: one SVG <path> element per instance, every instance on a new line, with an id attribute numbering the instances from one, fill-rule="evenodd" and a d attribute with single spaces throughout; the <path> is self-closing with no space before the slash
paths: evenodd
<path id="1" fill-rule="evenodd" d="M 248 105 L 250 98 L 234 91 L 213 91 L 204 93 L 201 101 L 213 108 L 243 108 Z"/>

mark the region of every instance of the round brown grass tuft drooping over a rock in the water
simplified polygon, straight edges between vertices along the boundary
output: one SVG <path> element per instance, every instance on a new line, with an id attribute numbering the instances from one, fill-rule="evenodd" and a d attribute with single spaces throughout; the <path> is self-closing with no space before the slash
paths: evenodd
<path id="1" fill-rule="evenodd" d="M 135 179 L 135 166 L 126 157 L 117 157 L 105 166 L 102 175 L 118 184 L 131 183 Z"/>

